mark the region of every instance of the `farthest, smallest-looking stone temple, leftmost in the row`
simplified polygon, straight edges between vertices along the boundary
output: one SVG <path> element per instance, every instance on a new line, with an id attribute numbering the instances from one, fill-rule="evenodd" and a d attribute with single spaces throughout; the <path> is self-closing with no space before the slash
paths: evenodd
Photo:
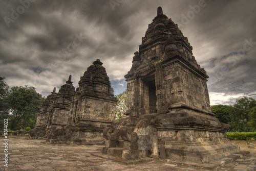
<path id="1" fill-rule="evenodd" d="M 56 91 L 56 88 L 54 87 L 53 92 L 46 97 L 45 102 L 42 104 L 41 110 L 36 117 L 35 127 L 29 132 L 30 139 L 41 139 L 46 135 L 49 109 L 53 104 L 53 101 L 56 95 L 55 91 Z"/>

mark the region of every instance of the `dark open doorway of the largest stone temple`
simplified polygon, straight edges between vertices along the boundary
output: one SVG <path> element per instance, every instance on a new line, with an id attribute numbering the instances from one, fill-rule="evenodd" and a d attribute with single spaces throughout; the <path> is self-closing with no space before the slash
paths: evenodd
<path id="1" fill-rule="evenodd" d="M 157 96 L 155 80 L 148 82 L 148 96 L 150 101 L 150 113 L 157 113 Z"/>

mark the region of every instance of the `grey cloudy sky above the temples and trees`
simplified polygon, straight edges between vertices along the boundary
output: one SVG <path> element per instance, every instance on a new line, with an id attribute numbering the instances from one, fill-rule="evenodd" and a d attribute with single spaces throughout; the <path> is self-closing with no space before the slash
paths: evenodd
<path id="1" fill-rule="evenodd" d="M 209 75 L 211 105 L 256 99 L 256 1 L 0 1 L 0 76 L 47 96 L 100 59 L 114 93 L 157 7 L 178 24 Z"/>

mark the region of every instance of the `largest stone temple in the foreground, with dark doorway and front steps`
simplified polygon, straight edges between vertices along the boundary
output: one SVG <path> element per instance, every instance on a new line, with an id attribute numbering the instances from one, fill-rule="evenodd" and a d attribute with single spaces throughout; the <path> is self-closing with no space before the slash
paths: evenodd
<path id="1" fill-rule="evenodd" d="M 157 157 L 163 144 L 169 159 L 204 163 L 240 151 L 226 139 L 230 126 L 211 112 L 208 76 L 192 49 L 159 7 L 124 76 L 126 117 L 116 129 L 103 130 L 103 154 L 124 159 Z M 157 135 L 155 143 L 153 135 Z"/>

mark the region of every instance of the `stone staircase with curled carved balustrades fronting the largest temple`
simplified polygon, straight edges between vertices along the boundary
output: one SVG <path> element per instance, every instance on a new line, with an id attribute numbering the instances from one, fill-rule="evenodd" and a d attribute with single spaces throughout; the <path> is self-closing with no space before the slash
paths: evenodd
<path id="1" fill-rule="evenodd" d="M 103 130 L 106 139 L 102 154 L 122 159 L 136 159 L 148 157 L 152 149 L 153 124 L 155 115 L 145 115 L 146 118 L 125 120 L 118 128 L 107 127 Z"/>

